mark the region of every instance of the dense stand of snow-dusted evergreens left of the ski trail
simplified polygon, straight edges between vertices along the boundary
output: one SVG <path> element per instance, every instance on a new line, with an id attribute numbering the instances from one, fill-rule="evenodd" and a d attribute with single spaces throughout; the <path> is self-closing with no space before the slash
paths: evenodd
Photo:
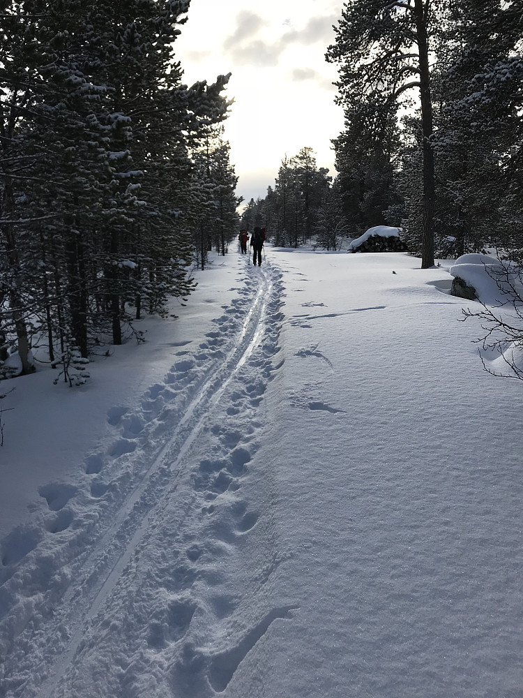
<path id="1" fill-rule="evenodd" d="M 187 0 L 41 0 L 0 12 L 0 361 L 120 344 L 185 297 L 237 225 L 228 76 L 187 87 Z M 0 364 L 1 374 L 1 364 Z"/>

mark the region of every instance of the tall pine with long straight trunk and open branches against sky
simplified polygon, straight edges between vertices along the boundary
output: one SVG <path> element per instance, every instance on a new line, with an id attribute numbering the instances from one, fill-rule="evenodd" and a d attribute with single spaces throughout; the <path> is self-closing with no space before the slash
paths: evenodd
<path id="1" fill-rule="evenodd" d="M 350 0 L 326 58 L 338 64 L 338 103 L 346 113 L 375 105 L 386 119 L 418 96 L 423 138 L 422 268 L 434 264 L 434 154 L 430 52 L 447 3 Z"/>

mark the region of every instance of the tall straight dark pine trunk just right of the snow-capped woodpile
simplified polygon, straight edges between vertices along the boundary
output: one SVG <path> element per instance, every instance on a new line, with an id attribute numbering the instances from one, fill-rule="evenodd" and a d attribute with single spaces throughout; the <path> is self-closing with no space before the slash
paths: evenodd
<path id="1" fill-rule="evenodd" d="M 427 3 L 428 4 L 428 3 Z M 434 266 L 434 152 L 430 144 L 433 131 L 430 96 L 429 43 L 427 18 L 422 0 L 414 0 L 418 35 L 421 124 L 423 130 L 423 218 L 421 230 L 421 268 Z"/>

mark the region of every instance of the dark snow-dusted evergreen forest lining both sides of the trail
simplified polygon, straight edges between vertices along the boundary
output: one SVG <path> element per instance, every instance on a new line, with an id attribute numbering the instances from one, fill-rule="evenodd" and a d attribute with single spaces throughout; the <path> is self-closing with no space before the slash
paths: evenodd
<path id="1" fill-rule="evenodd" d="M 229 75 L 188 86 L 189 0 L 6 2 L 0 13 L 0 377 L 33 350 L 77 380 L 133 319 L 185 302 L 238 227 L 337 250 L 401 228 L 423 268 L 523 249 L 523 0 L 349 0 L 326 61 L 335 176 L 285 155 L 241 216 Z"/>

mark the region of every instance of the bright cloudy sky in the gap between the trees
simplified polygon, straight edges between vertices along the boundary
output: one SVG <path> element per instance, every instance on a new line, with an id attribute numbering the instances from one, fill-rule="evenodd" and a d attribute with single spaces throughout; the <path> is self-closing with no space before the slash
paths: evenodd
<path id="1" fill-rule="evenodd" d="M 176 40 L 184 80 L 215 82 L 232 73 L 225 135 L 238 195 L 262 198 L 282 158 L 310 146 L 335 174 L 331 138 L 342 130 L 334 104 L 338 73 L 325 61 L 341 0 L 191 0 Z"/>

